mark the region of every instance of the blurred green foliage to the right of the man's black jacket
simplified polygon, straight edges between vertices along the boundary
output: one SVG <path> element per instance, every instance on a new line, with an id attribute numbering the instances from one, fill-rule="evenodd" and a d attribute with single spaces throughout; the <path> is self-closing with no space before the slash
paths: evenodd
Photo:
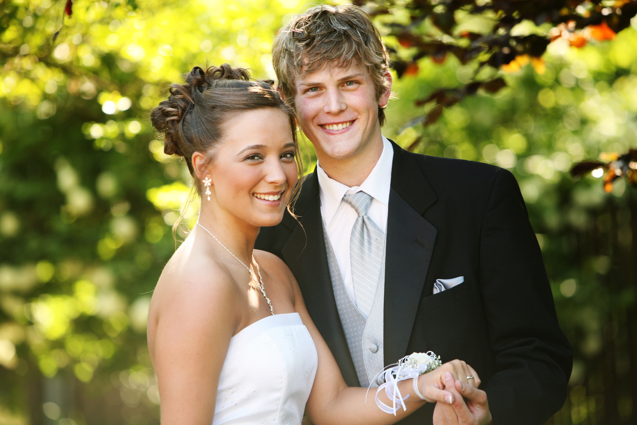
<path id="1" fill-rule="evenodd" d="M 422 57 L 394 80 L 399 100 L 387 110 L 383 134 L 403 147 L 490 162 L 519 181 L 575 349 L 556 425 L 637 423 L 637 189 L 619 179 L 606 193 L 602 169 L 578 181 L 569 173 L 586 158 L 602 155 L 603 164 L 613 159 L 604 152 L 637 147 L 636 45 L 636 19 L 612 41 L 577 48 L 559 38 L 542 73 L 530 63 L 501 73 L 501 90 L 464 97 L 429 124 L 417 100 L 474 72 L 454 55 Z"/>

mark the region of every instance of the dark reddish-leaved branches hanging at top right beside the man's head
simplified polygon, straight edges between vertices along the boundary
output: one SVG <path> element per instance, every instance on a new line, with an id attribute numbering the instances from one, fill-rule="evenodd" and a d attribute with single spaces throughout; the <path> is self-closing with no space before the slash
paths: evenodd
<path id="1" fill-rule="evenodd" d="M 468 65 L 464 81 L 436 90 L 417 104 L 433 103 L 424 117 L 435 122 L 444 107 L 482 88 L 505 86 L 499 69 L 517 71 L 529 60 L 538 71 L 548 43 L 557 39 L 583 47 L 588 40 L 612 40 L 637 14 L 634 0 L 359 0 L 384 29 L 397 76 L 414 75 L 419 60 L 441 63 L 447 55 Z"/>

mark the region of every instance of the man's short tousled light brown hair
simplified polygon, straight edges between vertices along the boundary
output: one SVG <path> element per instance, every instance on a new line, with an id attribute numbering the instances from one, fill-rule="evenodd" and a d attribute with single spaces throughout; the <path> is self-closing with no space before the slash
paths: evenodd
<path id="1" fill-rule="evenodd" d="M 390 89 L 385 78 L 389 52 L 369 16 L 353 4 L 315 6 L 292 19 L 276 35 L 272 60 L 283 97 L 293 107 L 296 76 L 312 73 L 326 64 L 366 66 L 377 99 Z M 385 111 L 380 106 L 378 121 L 381 126 L 385 122 Z"/>

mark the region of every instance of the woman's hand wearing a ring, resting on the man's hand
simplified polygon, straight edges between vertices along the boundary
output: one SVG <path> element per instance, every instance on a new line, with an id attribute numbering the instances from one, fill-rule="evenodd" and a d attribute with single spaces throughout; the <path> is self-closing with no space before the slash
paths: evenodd
<path id="1" fill-rule="evenodd" d="M 420 375 L 418 378 L 418 389 L 427 402 L 441 401 L 448 404 L 454 402 L 453 396 L 448 391 L 443 391 L 445 372 L 451 373 L 454 380 L 459 380 L 464 384 L 469 382 L 473 387 L 480 385 L 478 373 L 466 362 L 455 359 L 442 364 L 431 372 Z"/>

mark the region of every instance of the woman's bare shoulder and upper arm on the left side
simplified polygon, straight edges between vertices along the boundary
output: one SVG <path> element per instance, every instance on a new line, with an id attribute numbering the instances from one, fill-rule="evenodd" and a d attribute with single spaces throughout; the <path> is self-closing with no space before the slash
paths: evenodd
<path id="1" fill-rule="evenodd" d="M 220 373 L 245 308 L 229 271 L 186 240 L 162 271 L 148 312 L 148 349 L 162 423 L 210 423 Z M 196 408 L 192 408 L 192 407 Z"/>

